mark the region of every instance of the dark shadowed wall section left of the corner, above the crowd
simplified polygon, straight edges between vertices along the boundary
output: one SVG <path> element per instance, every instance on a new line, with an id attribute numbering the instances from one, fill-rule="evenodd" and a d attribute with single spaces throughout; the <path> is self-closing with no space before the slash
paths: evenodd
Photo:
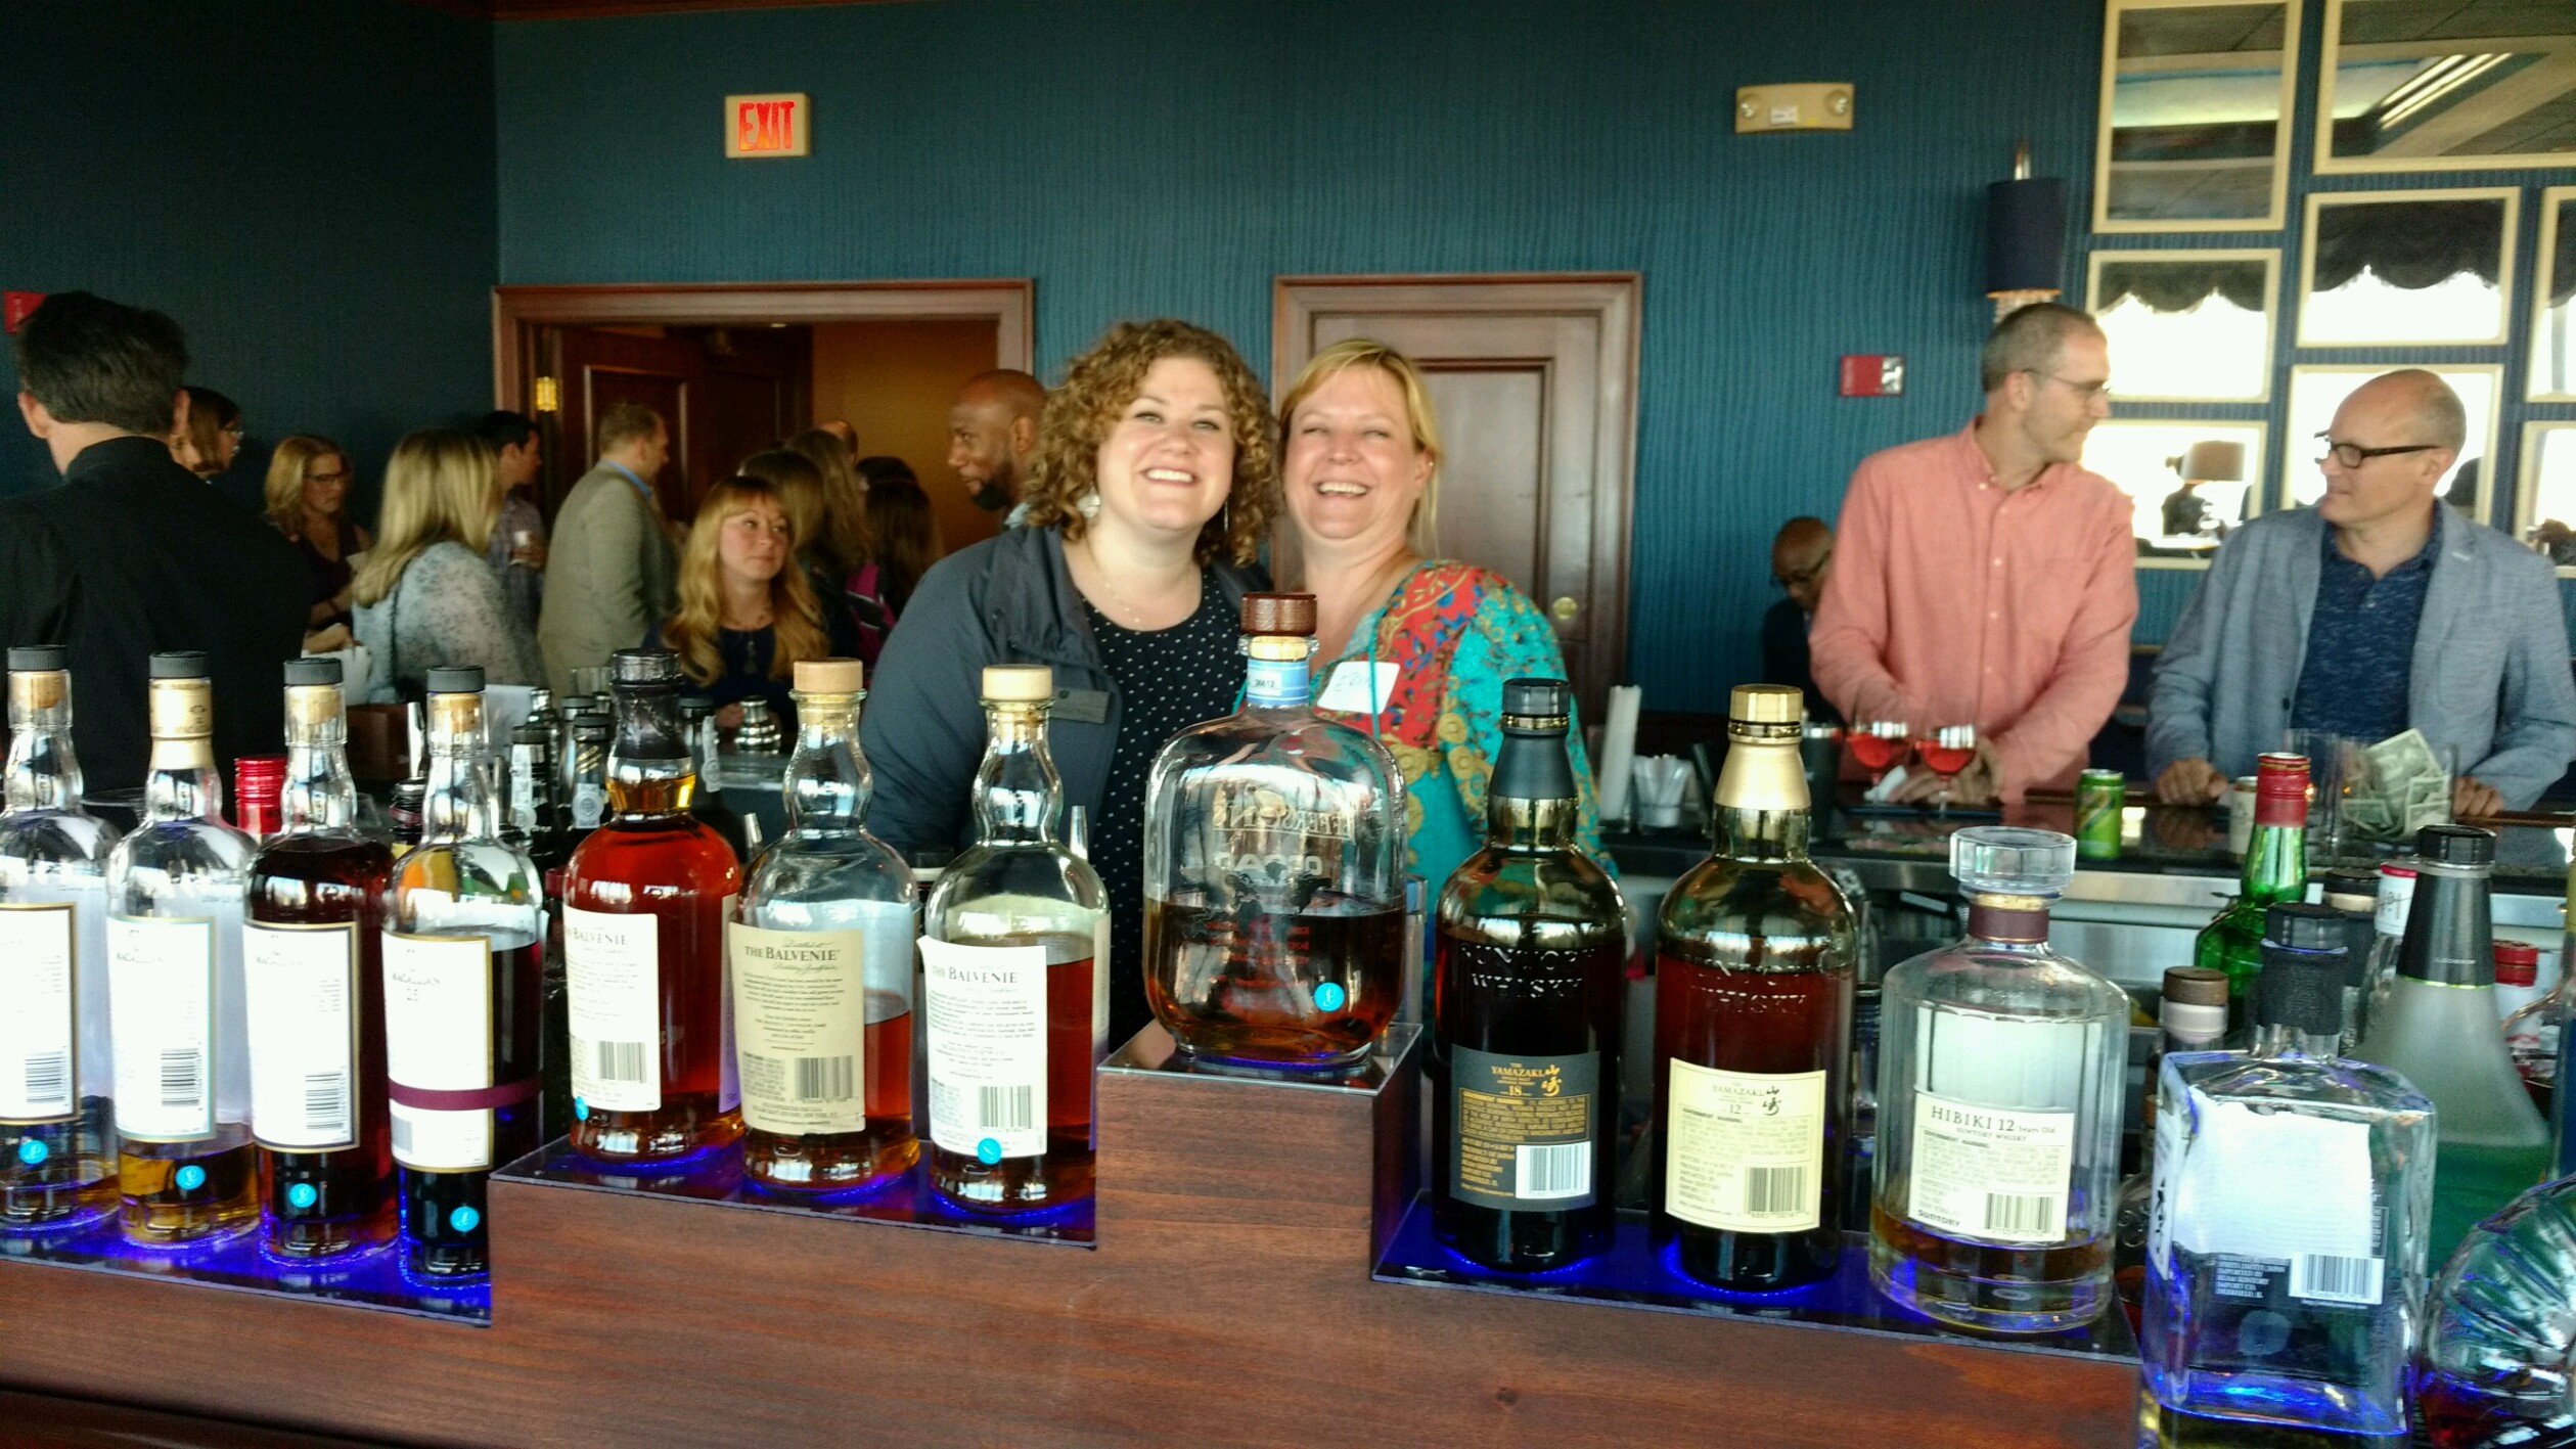
<path id="1" fill-rule="evenodd" d="M 358 453 L 363 515 L 394 438 L 489 407 L 489 26 L 399 0 L 5 0 L 0 44 L 0 286 L 167 311 L 252 440 Z M 0 378 L 18 389 L 5 355 Z M 0 494 L 54 479 L 0 420 Z"/>

